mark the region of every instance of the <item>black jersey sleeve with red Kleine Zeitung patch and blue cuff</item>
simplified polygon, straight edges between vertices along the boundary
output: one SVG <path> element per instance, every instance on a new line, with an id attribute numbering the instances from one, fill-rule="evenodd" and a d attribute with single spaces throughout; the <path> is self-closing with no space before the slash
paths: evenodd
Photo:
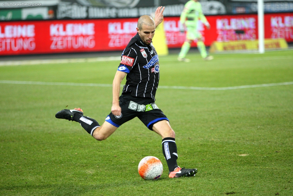
<path id="1" fill-rule="evenodd" d="M 121 56 L 121 61 L 118 67 L 118 71 L 129 73 L 137 60 L 137 53 L 133 48 L 125 49 Z"/>

